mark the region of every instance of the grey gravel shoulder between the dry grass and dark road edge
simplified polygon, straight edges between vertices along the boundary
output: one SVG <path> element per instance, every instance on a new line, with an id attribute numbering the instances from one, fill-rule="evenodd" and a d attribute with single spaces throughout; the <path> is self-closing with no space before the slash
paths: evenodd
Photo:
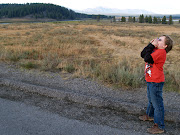
<path id="1" fill-rule="evenodd" d="M 112 89 L 97 82 L 73 78 L 66 73 L 25 70 L 0 63 L 0 84 L 11 88 L 67 99 L 96 107 L 106 107 L 129 114 L 144 113 L 147 104 L 146 88 L 135 90 Z M 164 92 L 165 120 L 180 122 L 180 94 Z"/>

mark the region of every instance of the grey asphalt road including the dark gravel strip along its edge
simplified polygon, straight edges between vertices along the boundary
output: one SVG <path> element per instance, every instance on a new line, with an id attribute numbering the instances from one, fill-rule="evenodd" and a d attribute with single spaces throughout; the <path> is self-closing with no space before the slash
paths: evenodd
<path id="1" fill-rule="evenodd" d="M 138 116 L 0 87 L 0 135 L 146 135 Z M 165 134 L 178 135 L 166 123 Z"/>

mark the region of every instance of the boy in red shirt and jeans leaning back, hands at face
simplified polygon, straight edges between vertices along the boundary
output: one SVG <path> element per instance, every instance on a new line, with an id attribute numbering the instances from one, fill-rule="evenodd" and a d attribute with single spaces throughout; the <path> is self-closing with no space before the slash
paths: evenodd
<path id="1" fill-rule="evenodd" d="M 147 131 L 152 134 L 164 132 L 164 104 L 162 89 L 165 81 L 163 65 L 166 61 L 166 53 L 173 46 L 173 40 L 163 35 L 153 39 L 141 52 L 145 64 L 145 79 L 147 82 L 148 107 L 146 115 L 140 116 L 143 121 L 153 121 L 154 126 Z"/>

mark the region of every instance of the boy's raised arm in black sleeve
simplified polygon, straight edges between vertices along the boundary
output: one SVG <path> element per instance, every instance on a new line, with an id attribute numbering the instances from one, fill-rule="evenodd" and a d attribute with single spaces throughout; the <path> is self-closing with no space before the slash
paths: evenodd
<path id="1" fill-rule="evenodd" d="M 153 52 L 155 46 L 151 43 L 149 43 L 141 52 L 141 57 L 144 58 L 145 62 L 153 64 L 153 58 L 151 56 L 151 53 Z"/>

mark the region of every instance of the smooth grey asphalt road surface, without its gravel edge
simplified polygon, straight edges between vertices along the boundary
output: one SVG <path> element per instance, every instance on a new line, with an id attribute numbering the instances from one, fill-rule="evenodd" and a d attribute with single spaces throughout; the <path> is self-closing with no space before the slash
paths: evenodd
<path id="1" fill-rule="evenodd" d="M 132 134 L 104 125 L 94 125 L 0 98 L 1 135 L 122 135 Z"/>

